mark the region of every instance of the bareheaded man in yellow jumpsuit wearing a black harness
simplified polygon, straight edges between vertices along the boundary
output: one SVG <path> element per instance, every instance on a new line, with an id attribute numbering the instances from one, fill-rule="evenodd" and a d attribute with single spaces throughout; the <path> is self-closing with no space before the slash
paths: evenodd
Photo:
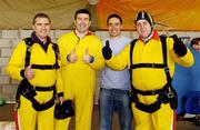
<path id="1" fill-rule="evenodd" d="M 31 37 L 18 43 L 6 68 L 11 78 L 21 81 L 16 110 L 17 130 L 54 130 L 54 94 L 57 91 L 63 101 L 63 81 L 53 49 L 58 46 L 48 37 L 50 24 L 47 14 L 38 13 L 32 20 Z"/>

